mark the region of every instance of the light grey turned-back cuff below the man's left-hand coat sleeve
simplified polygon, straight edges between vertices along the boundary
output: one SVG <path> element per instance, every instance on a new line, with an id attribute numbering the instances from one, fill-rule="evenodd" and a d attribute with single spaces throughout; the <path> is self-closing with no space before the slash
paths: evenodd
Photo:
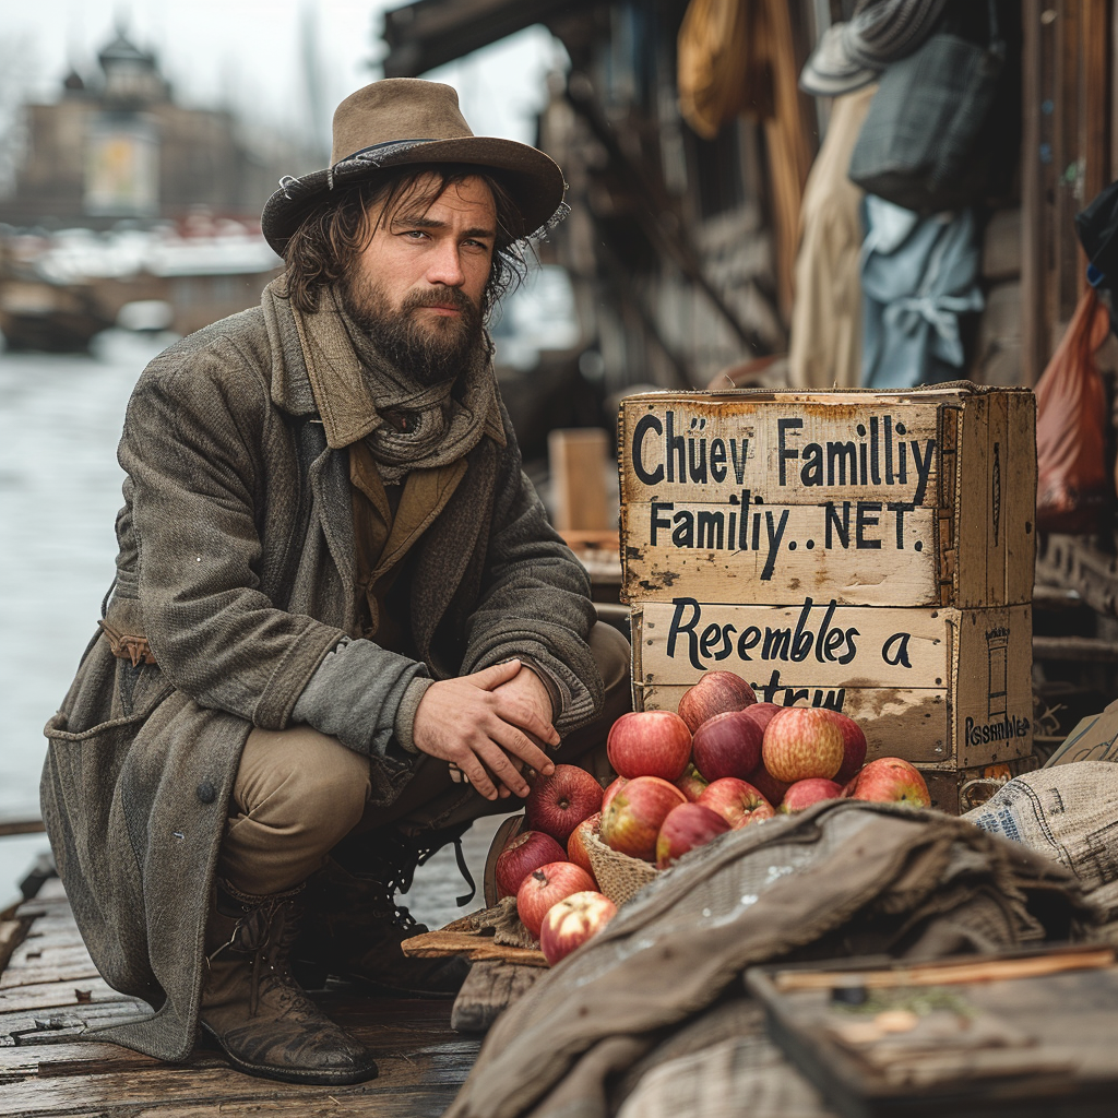
<path id="1" fill-rule="evenodd" d="M 423 663 L 371 641 L 347 638 L 323 657 L 295 702 L 292 719 L 354 752 L 387 757 L 401 747 L 414 754 L 411 722 L 432 682 Z"/>

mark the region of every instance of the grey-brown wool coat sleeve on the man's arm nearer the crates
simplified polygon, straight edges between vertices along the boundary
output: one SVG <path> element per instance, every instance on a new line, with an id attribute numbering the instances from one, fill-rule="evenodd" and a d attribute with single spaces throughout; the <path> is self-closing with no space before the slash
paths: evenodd
<path id="1" fill-rule="evenodd" d="M 601 676 L 587 644 L 596 619 L 590 580 L 521 470 L 508 416 L 505 434 L 485 579 L 470 617 L 463 672 L 523 657 L 558 686 L 562 710 L 556 728 L 563 732 L 603 703 Z"/>

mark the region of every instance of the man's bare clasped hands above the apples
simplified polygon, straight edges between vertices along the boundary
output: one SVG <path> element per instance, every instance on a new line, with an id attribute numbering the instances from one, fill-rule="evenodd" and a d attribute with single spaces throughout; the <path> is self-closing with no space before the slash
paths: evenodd
<path id="1" fill-rule="evenodd" d="M 559 745 L 547 689 L 519 660 L 433 683 L 416 709 L 411 737 L 421 752 L 456 765 L 486 799 L 496 799 L 502 787 L 527 796 L 514 760 L 550 774 L 555 766 L 536 741 Z"/>

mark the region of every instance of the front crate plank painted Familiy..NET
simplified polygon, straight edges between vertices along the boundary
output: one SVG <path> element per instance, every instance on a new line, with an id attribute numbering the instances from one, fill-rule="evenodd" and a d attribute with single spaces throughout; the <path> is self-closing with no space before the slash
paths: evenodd
<path id="1" fill-rule="evenodd" d="M 881 501 L 833 505 L 648 502 L 626 508 L 628 601 L 685 585 L 703 601 L 785 604 L 805 594 L 844 605 L 939 605 L 935 509 Z"/>

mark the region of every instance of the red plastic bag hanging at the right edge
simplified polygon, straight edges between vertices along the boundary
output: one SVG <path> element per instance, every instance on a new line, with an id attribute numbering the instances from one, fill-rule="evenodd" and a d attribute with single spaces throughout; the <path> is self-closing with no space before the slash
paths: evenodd
<path id="1" fill-rule="evenodd" d="M 1106 391 L 1095 353 L 1110 316 L 1093 287 L 1036 382 L 1036 527 L 1089 532 L 1107 506 Z"/>

